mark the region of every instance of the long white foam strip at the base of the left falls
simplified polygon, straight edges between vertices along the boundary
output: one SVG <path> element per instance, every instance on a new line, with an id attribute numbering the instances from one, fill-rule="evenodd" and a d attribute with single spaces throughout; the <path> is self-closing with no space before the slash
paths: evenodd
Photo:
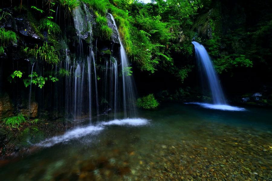
<path id="1" fill-rule="evenodd" d="M 51 147 L 58 143 L 70 141 L 72 139 L 82 138 L 86 135 L 96 135 L 101 132 L 105 126 L 108 125 L 129 125 L 129 126 L 141 126 L 148 123 L 147 119 L 133 118 L 133 119 L 115 119 L 108 122 L 100 122 L 97 125 L 89 125 L 87 127 L 80 127 L 65 132 L 63 135 L 54 136 L 48 138 L 40 143 L 36 144 L 39 147 Z"/>

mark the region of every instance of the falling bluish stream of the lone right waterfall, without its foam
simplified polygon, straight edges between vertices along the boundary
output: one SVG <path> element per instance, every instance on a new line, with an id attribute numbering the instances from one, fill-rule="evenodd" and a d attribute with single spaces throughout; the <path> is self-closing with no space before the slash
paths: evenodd
<path id="1" fill-rule="evenodd" d="M 212 61 L 209 57 L 208 52 L 201 44 L 193 41 L 192 42 L 196 49 L 197 61 L 201 64 L 204 69 L 205 75 L 209 81 L 209 87 L 212 93 L 212 100 L 214 104 L 226 104 L 226 99 L 222 91 L 222 87 L 219 84 L 218 76 L 212 65 Z"/>

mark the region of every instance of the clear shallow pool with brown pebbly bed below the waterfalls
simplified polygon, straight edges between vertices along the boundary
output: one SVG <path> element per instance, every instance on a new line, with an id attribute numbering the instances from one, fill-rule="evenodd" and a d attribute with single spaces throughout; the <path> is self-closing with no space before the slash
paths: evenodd
<path id="1" fill-rule="evenodd" d="M 142 119 L 134 119 L 141 122 L 138 125 L 129 120 L 98 122 L 94 132 L 94 127 L 86 126 L 76 131 L 81 136 L 69 139 L 78 134 L 73 134 L 76 129 L 68 131 L 55 137 L 68 140 L 0 161 L 0 178 L 271 180 L 272 112 L 246 109 L 233 112 L 168 104 L 141 111 Z"/>

